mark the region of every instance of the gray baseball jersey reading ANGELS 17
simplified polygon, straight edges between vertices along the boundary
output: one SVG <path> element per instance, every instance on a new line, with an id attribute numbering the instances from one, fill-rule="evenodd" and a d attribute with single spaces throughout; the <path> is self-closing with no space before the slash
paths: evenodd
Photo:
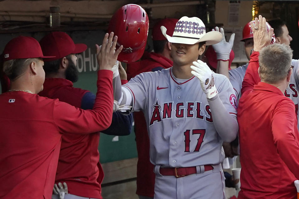
<path id="1" fill-rule="evenodd" d="M 230 81 L 220 74 L 213 76 L 226 110 L 236 116 L 237 99 Z M 133 96 L 132 111 L 145 113 L 154 165 L 191 167 L 224 160 L 223 141 L 198 78 L 180 80 L 168 68 L 141 73 L 124 86 Z"/>

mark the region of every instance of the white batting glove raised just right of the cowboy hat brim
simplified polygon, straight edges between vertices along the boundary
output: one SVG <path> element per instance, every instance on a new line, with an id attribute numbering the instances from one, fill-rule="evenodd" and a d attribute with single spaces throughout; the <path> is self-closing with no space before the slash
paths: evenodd
<path id="1" fill-rule="evenodd" d="M 219 28 L 215 27 L 216 31 L 219 32 Z M 212 29 L 212 31 L 215 31 Z M 231 34 L 229 42 L 225 41 L 224 30 L 220 28 L 220 33 L 222 34 L 221 42 L 212 45 L 213 49 L 216 52 L 217 60 L 229 60 L 230 59 L 230 51 L 233 48 L 235 33 Z"/>

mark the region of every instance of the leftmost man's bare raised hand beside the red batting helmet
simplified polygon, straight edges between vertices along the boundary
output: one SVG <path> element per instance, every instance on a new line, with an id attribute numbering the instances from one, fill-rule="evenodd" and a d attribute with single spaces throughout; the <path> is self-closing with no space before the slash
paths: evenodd
<path id="1" fill-rule="evenodd" d="M 112 67 L 115 65 L 117 56 L 121 52 L 123 46 L 121 45 L 117 50 L 115 50 L 117 36 L 114 36 L 114 33 L 111 32 L 109 37 L 108 33 L 105 34 L 102 47 L 96 44 L 97 48 L 97 62 L 99 64 L 99 69 L 103 70 L 112 70 Z M 113 42 L 112 42 L 113 39 Z"/>

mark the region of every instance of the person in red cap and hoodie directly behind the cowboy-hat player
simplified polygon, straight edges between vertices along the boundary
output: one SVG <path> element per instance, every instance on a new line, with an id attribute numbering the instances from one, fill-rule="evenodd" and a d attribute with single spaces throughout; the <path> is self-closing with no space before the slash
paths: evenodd
<path id="1" fill-rule="evenodd" d="M 127 64 L 128 80 L 142 72 L 159 71 L 170 68 L 173 65 L 170 57 L 170 44 L 162 34 L 161 25 L 167 28 L 167 34 L 172 36 L 174 26 L 178 19 L 166 18 L 158 21 L 152 30 L 154 52 L 144 52 L 140 62 Z M 134 132 L 136 135 L 136 146 L 138 152 L 137 162 L 137 190 L 140 199 L 154 197 L 155 174 L 154 165 L 150 162 L 150 139 L 147 125 L 142 111 L 134 113 Z"/>

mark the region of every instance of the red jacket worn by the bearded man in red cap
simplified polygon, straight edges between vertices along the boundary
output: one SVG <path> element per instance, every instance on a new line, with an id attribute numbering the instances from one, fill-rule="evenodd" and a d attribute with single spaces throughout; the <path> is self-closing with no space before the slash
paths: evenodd
<path id="1" fill-rule="evenodd" d="M 88 90 L 74 88 L 73 82 L 63 78 L 46 78 L 38 95 L 58 98 L 76 108 Z M 100 132 L 88 135 L 63 134 L 55 183 L 66 182 L 69 193 L 81 197 L 102 198 L 101 183 L 104 172 L 97 150 Z M 97 181 L 98 180 L 98 181 Z"/>

